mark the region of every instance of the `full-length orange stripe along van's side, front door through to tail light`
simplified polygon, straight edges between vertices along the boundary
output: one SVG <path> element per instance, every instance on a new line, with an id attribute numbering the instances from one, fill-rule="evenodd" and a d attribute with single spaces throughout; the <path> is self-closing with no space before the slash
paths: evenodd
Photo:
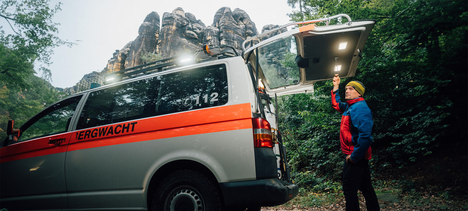
<path id="1" fill-rule="evenodd" d="M 250 103 L 243 103 L 210 109 L 187 111 L 167 116 L 155 116 L 125 123 L 73 131 L 71 133 L 63 134 L 68 137 L 71 135 L 67 149 L 65 145 L 44 148 L 46 147 L 45 145 L 47 145 L 46 139 L 48 138 L 37 138 L 18 143 L 16 145 L 0 148 L 0 162 L 21 160 L 53 153 L 64 153 L 65 151 L 112 146 L 161 138 L 248 129 L 252 128 L 251 115 Z M 129 128 L 124 131 L 122 128 L 123 125 L 128 125 Z M 108 134 L 92 138 L 92 131 L 106 127 L 107 130 L 112 128 L 113 131 L 117 131 L 119 134 L 110 134 L 109 131 L 106 131 Z M 116 128 L 118 128 L 118 130 Z M 88 134 L 86 131 L 89 131 Z M 43 145 L 44 147 L 40 147 Z"/>

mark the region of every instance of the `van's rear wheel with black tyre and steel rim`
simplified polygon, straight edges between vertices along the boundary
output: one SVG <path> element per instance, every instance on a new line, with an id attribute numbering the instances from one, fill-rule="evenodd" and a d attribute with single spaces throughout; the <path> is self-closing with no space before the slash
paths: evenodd
<path id="1" fill-rule="evenodd" d="M 194 170 L 179 170 L 162 180 L 153 196 L 152 211 L 220 211 L 215 184 Z"/>

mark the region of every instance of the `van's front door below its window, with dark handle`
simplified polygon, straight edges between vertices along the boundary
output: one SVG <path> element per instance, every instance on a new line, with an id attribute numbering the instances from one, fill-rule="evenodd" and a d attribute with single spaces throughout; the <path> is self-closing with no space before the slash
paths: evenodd
<path id="1" fill-rule="evenodd" d="M 66 143 L 55 146 L 49 140 L 68 141 L 70 135 L 46 136 L 1 148 L 2 208 L 62 209 L 66 205 Z"/>

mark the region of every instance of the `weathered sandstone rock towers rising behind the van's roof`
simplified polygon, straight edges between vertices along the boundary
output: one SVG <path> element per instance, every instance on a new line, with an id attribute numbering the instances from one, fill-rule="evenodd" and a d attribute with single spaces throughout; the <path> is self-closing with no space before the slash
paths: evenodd
<path id="1" fill-rule="evenodd" d="M 278 25 L 266 25 L 262 32 L 276 27 Z M 197 20 L 195 15 L 185 13 L 181 7 L 177 7 L 172 13 L 162 15 L 160 27 L 158 13 L 152 12 L 140 25 L 135 40 L 125 44 L 121 50 L 116 50 L 100 73 L 89 73 L 81 80 L 141 65 L 143 64 L 141 57 L 149 52 L 167 58 L 195 51 L 198 45 L 206 42 L 216 45 L 230 44 L 241 53 L 242 42 L 257 34 L 255 23 L 244 10 L 239 8 L 235 8 L 234 11 L 229 7 L 219 8 L 213 17 L 212 25 L 209 26 Z M 276 34 L 278 33 L 262 37 L 261 40 Z M 252 40 L 246 47 L 249 48 L 257 43 L 257 40 Z M 69 92 L 73 92 L 74 89 L 76 88 L 65 88 Z"/>

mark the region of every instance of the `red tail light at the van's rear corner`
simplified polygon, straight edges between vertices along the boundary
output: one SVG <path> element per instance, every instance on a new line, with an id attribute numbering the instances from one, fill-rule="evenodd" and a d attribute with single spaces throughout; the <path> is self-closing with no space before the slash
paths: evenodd
<path id="1" fill-rule="evenodd" d="M 254 147 L 273 148 L 270 123 L 264 118 L 252 118 L 254 128 Z"/>

